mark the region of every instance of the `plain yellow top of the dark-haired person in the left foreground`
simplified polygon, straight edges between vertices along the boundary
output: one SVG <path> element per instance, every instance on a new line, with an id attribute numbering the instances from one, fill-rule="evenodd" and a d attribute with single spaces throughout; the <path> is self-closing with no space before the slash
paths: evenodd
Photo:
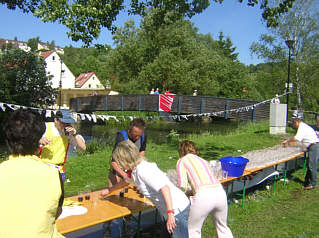
<path id="1" fill-rule="evenodd" d="M 61 197 L 58 170 L 37 156 L 0 164 L 0 237 L 58 238 L 55 216 Z"/>

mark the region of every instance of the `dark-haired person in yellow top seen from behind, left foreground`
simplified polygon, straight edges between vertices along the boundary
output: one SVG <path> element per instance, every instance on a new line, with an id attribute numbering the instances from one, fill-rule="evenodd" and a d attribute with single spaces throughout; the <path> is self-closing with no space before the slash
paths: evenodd
<path id="1" fill-rule="evenodd" d="M 4 122 L 11 155 L 0 164 L 0 237 L 64 237 L 55 223 L 64 197 L 60 174 L 36 156 L 44 130 L 40 115 L 27 110 Z"/>

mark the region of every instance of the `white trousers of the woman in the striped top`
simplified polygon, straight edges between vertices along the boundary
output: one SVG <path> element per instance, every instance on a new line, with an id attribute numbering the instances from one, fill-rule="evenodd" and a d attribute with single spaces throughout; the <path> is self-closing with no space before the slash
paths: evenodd
<path id="1" fill-rule="evenodd" d="M 227 226 L 227 196 L 222 185 L 199 190 L 191 197 L 188 218 L 189 238 L 200 238 L 201 229 L 207 216 L 211 214 L 218 238 L 233 238 Z"/>

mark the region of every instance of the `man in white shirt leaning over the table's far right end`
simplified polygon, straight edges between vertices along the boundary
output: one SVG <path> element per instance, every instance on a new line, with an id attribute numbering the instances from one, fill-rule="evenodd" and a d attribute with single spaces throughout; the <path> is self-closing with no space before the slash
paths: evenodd
<path id="1" fill-rule="evenodd" d="M 300 118 L 292 118 L 292 126 L 297 129 L 297 134 L 282 142 L 282 145 L 289 144 L 296 140 L 302 142 L 307 149 L 307 173 L 304 181 L 304 189 L 314 189 L 317 185 L 317 160 L 319 158 L 319 138 L 315 130 L 302 122 Z"/>

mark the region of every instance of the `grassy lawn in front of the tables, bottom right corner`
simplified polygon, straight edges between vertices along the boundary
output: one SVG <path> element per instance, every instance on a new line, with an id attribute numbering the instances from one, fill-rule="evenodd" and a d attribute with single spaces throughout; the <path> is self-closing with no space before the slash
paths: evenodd
<path id="1" fill-rule="evenodd" d="M 302 190 L 303 170 L 291 174 L 285 186 L 277 183 L 276 192 L 260 187 L 240 202 L 229 206 L 228 225 L 236 238 L 319 237 L 319 190 Z M 202 237 L 217 237 L 210 219 Z"/>

